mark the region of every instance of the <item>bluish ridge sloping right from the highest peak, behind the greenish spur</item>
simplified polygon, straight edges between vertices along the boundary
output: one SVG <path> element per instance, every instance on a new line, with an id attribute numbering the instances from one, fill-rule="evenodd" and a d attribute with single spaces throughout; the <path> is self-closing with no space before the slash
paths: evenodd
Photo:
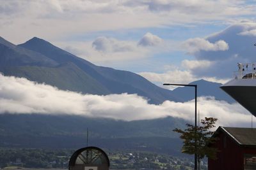
<path id="1" fill-rule="evenodd" d="M 58 62 L 58 64 L 73 62 L 85 73 L 104 85 L 108 89 L 109 94 L 135 93 L 147 97 L 149 103 L 154 104 L 163 103 L 166 99 L 182 101 L 179 97 L 173 96 L 170 90 L 161 89 L 138 74 L 116 70 L 110 67 L 95 66 L 91 62 L 81 59 L 72 53 L 68 53 L 44 39 L 32 38 L 19 46 L 42 53 L 42 55 Z"/>

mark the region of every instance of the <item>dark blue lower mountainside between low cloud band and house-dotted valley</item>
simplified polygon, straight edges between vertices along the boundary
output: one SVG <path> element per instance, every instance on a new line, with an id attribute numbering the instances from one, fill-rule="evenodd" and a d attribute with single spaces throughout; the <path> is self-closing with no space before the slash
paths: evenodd
<path id="1" fill-rule="evenodd" d="M 0 114 L 0 147 L 81 148 L 89 145 L 114 150 L 143 150 L 180 155 L 182 142 L 172 117 L 125 122 L 74 115 Z M 170 145 L 172 143 L 172 145 Z"/>

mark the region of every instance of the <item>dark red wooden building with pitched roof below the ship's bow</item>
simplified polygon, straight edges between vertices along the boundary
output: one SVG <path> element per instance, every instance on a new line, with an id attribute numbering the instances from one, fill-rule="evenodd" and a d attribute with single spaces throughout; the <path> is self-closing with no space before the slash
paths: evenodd
<path id="1" fill-rule="evenodd" d="M 213 136 L 219 152 L 216 160 L 208 159 L 209 170 L 256 169 L 256 129 L 220 126 Z"/>

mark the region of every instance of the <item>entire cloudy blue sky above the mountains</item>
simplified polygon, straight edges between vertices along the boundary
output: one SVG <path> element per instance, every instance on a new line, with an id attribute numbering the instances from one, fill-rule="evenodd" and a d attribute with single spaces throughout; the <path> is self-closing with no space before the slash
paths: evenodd
<path id="1" fill-rule="evenodd" d="M 0 4 L 0 32 L 15 44 L 36 36 L 157 84 L 225 83 L 236 62 L 255 61 L 254 48 L 243 52 L 256 42 L 255 8 L 255 1 L 229 0 L 12 0 Z"/>

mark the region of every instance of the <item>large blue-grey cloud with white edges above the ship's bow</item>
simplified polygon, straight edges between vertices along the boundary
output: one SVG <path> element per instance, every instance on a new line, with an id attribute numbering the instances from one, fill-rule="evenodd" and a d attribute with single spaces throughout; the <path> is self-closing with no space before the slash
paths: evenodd
<path id="1" fill-rule="evenodd" d="M 197 77 L 232 78 L 232 73 L 237 71 L 237 62 L 248 63 L 255 60 L 256 48 L 253 46 L 255 44 L 255 30 L 256 22 L 246 20 L 230 25 L 223 31 L 211 34 L 204 39 L 195 41 L 199 43 L 193 43 L 193 39 L 189 39 L 185 43 L 188 46 L 188 52 L 194 55 L 198 62 L 202 63 L 204 61 L 204 66 L 211 63 L 210 66 L 205 68 L 189 68 L 189 71 Z M 220 44 L 213 43 L 220 42 L 220 39 L 225 42 Z M 189 41 L 192 42 L 188 43 Z M 205 50 L 205 48 L 208 48 L 208 50 Z M 213 50 L 209 50 L 211 48 Z M 208 61 L 208 64 L 205 61 Z"/>

